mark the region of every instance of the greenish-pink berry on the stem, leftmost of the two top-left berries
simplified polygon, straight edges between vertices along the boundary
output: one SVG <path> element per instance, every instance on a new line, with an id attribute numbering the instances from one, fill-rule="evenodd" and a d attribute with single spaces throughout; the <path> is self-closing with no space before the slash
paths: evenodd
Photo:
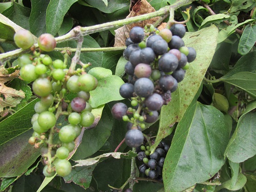
<path id="1" fill-rule="evenodd" d="M 30 31 L 21 29 L 14 34 L 16 46 L 22 49 L 29 49 L 34 44 L 34 38 Z"/>

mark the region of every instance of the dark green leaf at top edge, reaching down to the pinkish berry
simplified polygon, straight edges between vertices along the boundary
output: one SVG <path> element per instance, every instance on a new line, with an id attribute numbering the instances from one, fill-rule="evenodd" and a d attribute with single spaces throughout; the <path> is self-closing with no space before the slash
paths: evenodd
<path id="1" fill-rule="evenodd" d="M 39 37 L 46 33 L 46 10 L 50 0 L 32 0 L 29 27 L 31 33 Z"/>

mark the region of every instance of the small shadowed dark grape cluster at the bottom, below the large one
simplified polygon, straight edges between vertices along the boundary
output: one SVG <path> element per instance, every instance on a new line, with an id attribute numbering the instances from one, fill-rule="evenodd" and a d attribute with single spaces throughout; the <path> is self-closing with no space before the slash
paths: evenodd
<path id="1" fill-rule="evenodd" d="M 143 145 L 137 147 L 137 158 L 139 161 L 143 162 L 139 166 L 140 173 L 145 177 L 162 181 L 163 164 L 169 147 L 168 144 L 161 141 L 155 152 L 151 155 L 150 146 L 147 143 L 144 142 Z"/>

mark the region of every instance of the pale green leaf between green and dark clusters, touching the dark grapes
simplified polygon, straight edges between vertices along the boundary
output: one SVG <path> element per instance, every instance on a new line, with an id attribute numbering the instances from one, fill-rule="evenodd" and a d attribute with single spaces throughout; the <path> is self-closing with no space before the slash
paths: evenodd
<path id="1" fill-rule="evenodd" d="M 90 92 L 89 103 L 96 108 L 110 101 L 122 100 L 123 97 L 119 94 L 119 89 L 123 83 L 123 80 L 116 75 L 100 79 L 98 87 Z"/>

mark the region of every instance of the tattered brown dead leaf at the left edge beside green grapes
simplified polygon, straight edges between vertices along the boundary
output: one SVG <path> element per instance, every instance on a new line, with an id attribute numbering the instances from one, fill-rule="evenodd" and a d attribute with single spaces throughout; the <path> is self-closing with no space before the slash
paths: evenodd
<path id="1" fill-rule="evenodd" d="M 5 86 L 5 82 L 10 81 L 18 76 L 19 71 L 16 70 L 12 74 L 8 74 L 8 71 L 2 66 L 0 68 L 0 113 L 4 111 L 4 108 L 9 106 L 13 108 L 20 101 L 25 98 L 25 93 L 22 90 L 15 90 Z"/>

